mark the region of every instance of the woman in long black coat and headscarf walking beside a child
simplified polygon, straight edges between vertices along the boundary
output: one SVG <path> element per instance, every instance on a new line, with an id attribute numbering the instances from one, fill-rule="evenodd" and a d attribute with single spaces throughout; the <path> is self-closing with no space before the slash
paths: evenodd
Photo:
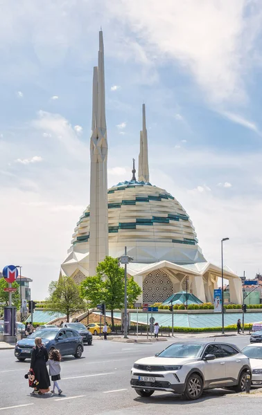
<path id="1" fill-rule="evenodd" d="M 46 369 L 46 362 L 49 360 L 49 353 L 42 344 L 42 338 L 35 338 L 35 347 L 33 347 L 30 369 L 33 369 L 35 379 L 39 384 L 35 392 L 44 394 L 49 391 L 50 378 Z"/>

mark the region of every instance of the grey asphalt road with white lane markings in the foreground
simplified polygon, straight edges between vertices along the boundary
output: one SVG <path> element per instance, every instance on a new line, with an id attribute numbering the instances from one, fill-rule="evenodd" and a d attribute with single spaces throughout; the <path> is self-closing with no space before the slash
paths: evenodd
<path id="1" fill-rule="evenodd" d="M 178 339 L 174 339 L 177 341 Z M 236 396 L 231 392 L 217 389 L 207 391 L 195 402 L 189 402 L 173 394 L 155 392 L 150 398 L 141 398 L 130 388 L 130 368 L 135 360 L 152 356 L 174 340 L 159 343 L 116 343 L 94 340 L 86 346 L 80 360 L 63 358 L 60 386 L 61 396 L 46 394 L 31 396 L 24 374 L 28 371 L 29 360 L 17 362 L 13 350 L 0 351 L 0 415 L 139 415 L 139 414 L 184 414 L 186 415 L 235 415 L 261 410 L 260 396 Z M 185 338 L 186 340 L 186 338 Z M 197 341 L 187 338 L 189 341 Z M 199 339 L 204 341 L 205 339 Z M 221 341 L 209 338 L 208 341 Z M 243 347 L 249 336 L 225 338 L 226 342 Z M 261 395 L 262 396 L 262 395 Z"/>

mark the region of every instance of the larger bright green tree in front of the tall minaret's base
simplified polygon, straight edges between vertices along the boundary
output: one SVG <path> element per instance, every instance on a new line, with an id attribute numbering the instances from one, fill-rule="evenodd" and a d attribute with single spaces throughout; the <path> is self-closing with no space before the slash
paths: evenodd
<path id="1" fill-rule="evenodd" d="M 141 288 L 128 279 L 128 304 L 132 304 L 141 294 Z M 112 327 L 114 328 L 114 309 L 123 308 L 125 302 L 125 271 L 119 267 L 116 258 L 105 257 L 96 268 L 94 277 L 87 277 L 80 284 L 80 294 L 89 300 L 91 307 L 104 302 L 111 311 Z"/>

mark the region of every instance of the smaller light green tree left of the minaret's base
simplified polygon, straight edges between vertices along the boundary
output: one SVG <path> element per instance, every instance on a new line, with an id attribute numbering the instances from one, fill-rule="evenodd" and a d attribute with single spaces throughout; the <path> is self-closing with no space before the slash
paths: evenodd
<path id="1" fill-rule="evenodd" d="M 67 322 L 72 313 L 85 308 L 85 303 L 80 297 L 80 286 L 73 281 L 73 278 L 65 275 L 49 284 L 49 298 L 46 301 L 50 311 L 66 314 Z"/>

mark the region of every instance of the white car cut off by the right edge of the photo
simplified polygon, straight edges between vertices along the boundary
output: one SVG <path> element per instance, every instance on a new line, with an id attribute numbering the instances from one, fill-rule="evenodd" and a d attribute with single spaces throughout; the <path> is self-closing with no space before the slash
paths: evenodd
<path id="1" fill-rule="evenodd" d="M 242 349 L 242 353 L 250 358 L 250 366 L 252 369 L 251 385 L 261 387 L 262 385 L 262 344 L 253 343 Z"/>

